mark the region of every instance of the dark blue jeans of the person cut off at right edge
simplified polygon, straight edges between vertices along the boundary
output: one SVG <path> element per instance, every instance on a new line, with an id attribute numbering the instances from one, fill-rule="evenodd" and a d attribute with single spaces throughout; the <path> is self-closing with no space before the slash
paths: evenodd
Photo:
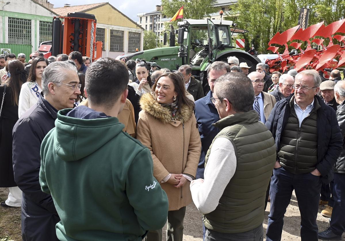
<path id="1" fill-rule="evenodd" d="M 334 206 L 331 218 L 331 230 L 342 235 L 345 230 L 345 174 L 334 173 Z"/>

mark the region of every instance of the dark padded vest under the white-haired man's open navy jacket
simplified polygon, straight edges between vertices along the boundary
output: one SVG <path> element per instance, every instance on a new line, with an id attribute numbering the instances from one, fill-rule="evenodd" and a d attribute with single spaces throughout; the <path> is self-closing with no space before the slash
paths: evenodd
<path id="1" fill-rule="evenodd" d="M 292 97 L 289 103 L 290 115 L 281 134 L 277 156 L 285 170 L 303 174 L 315 170 L 317 164 L 316 117 L 317 109 L 321 106 L 318 101 L 314 101 L 314 108 L 299 127 L 294 99 Z"/>

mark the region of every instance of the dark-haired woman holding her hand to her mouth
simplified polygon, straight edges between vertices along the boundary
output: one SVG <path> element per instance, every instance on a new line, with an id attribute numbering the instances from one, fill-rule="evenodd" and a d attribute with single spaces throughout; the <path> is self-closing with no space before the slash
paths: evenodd
<path id="1" fill-rule="evenodd" d="M 132 103 L 134 107 L 135 123 L 138 124 L 139 112 L 141 111 L 139 100 L 140 97 L 151 91 L 152 81 L 149 72 L 149 68 L 145 60 L 140 60 L 135 66 L 135 73 L 137 75 L 137 81 L 128 84 L 128 96 L 127 99 Z"/>

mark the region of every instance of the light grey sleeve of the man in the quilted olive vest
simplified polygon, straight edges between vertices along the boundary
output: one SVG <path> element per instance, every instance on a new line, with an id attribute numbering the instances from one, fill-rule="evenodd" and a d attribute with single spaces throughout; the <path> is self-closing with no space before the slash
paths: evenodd
<path id="1" fill-rule="evenodd" d="M 233 144 L 225 137 L 218 137 L 211 148 L 204 182 L 194 180 L 190 184 L 194 204 L 201 213 L 210 213 L 216 209 L 226 186 L 235 174 L 236 165 Z"/>

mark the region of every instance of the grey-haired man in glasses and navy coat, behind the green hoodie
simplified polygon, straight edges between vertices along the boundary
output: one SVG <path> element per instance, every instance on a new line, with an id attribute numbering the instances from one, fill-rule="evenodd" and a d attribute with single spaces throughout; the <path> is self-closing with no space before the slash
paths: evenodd
<path id="1" fill-rule="evenodd" d="M 24 241 L 58 240 L 55 226 L 60 221 L 52 197 L 42 192 L 39 181 L 40 147 L 55 127 L 57 112 L 73 108 L 80 94 L 75 66 L 53 62 L 42 73 L 42 93 L 13 128 L 14 180 L 23 191 L 21 228 Z"/>

